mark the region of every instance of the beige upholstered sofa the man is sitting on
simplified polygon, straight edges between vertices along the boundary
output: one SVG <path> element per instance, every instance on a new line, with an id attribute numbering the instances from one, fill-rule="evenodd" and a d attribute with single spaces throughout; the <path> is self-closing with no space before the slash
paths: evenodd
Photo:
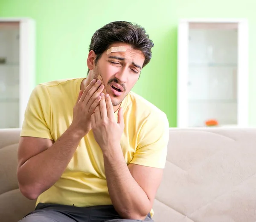
<path id="1" fill-rule="evenodd" d="M 0 130 L 0 221 L 35 201 L 17 189 L 19 129 Z M 256 128 L 170 128 L 155 222 L 256 222 Z"/>

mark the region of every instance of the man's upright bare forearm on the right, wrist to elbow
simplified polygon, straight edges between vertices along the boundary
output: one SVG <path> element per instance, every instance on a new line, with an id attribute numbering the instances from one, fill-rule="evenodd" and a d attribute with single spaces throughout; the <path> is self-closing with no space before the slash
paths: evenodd
<path id="1" fill-rule="evenodd" d="M 151 210 L 148 196 L 132 177 L 121 147 L 104 153 L 108 191 L 116 211 L 125 219 L 145 219 Z"/>

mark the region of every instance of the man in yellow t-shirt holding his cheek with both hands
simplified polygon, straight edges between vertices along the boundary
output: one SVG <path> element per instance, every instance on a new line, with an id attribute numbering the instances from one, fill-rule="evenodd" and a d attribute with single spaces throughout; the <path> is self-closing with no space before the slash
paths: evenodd
<path id="1" fill-rule="evenodd" d="M 131 92 L 152 47 L 144 28 L 109 23 L 92 37 L 87 78 L 35 87 L 17 177 L 22 194 L 37 202 L 21 222 L 153 221 L 169 123 Z"/>

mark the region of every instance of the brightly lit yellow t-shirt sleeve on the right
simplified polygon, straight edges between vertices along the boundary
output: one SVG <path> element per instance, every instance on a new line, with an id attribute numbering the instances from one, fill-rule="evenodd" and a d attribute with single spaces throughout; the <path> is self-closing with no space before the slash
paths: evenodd
<path id="1" fill-rule="evenodd" d="M 169 142 L 169 122 L 166 114 L 147 117 L 138 135 L 138 145 L 130 163 L 165 168 Z"/>

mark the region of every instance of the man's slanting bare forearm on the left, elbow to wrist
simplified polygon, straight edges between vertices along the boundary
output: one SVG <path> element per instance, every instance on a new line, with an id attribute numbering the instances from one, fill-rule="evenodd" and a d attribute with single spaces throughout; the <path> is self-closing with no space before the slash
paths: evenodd
<path id="1" fill-rule="evenodd" d="M 80 140 L 81 137 L 68 128 L 50 148 L 31 157 L 18 168 L 20 189 L 30 193 L 26 196 L 37 198 L 61 177 Z"/>

